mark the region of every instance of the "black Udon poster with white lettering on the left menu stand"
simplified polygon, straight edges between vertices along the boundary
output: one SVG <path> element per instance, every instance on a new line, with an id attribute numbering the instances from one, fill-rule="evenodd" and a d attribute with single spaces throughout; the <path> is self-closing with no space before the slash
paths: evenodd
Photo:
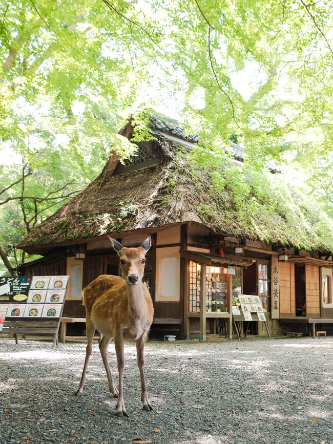
<path id="1" fill-rule="evenodd" d="M 0 304 L 26 303 L 31 280 L 31 276 L 0 277 Z"/>

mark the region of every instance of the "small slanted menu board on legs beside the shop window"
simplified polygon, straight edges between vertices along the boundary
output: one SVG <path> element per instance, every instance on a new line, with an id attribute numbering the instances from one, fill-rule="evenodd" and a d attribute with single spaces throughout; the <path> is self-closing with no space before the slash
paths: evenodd
<path id="1" fill-rule="evenodd" d="M 262 308 L 261 300 L 257 295 L 250 294 L 233 294 L 233 323 L 235 330 L 238 335 L 238 339 L 240 339 L 239 327 L 236 325 L 236 322 L 247 321 L 248 323 L 251 321 L 262 321 L 265 324 L 268 337 L 270 338 L 270 334 L 268 331 L 266 317 L 264 310 Z M 246 337 L 247 327 L 245 328 L 244 337 Z"/>

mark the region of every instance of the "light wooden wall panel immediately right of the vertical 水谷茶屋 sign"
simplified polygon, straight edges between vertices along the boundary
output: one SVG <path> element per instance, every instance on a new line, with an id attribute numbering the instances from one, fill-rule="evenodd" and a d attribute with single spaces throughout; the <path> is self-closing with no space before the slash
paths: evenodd
<path id="1" fill-rule="evenodd" d="M 295 265 L 279 262 L 280 317 L 296 315 L 295 307 Z"/>

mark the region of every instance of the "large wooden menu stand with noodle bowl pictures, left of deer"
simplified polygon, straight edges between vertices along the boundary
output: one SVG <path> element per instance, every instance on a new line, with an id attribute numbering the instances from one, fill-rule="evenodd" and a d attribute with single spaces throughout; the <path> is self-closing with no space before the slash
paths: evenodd
<path id="1" fill-rule="evenodd" d="M 53 334 L 63 314 L 69 276 L 0 278 L 0 334 Z"/>

